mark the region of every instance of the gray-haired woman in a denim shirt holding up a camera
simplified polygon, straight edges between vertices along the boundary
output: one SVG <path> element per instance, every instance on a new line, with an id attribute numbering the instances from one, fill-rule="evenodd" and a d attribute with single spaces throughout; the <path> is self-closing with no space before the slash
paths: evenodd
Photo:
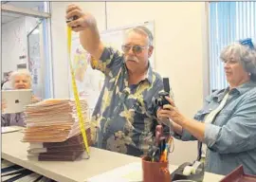
<path id="1" fill-rule="evenodd" d="M 242 164 L 256 174 L 256 50 L 245 39 L 225 47 L 220 58 L 229 87 L 212 93 L 193 119 L 169 98 L 157 116 L 170 119 L 176 138 L 199 141 L 198 160 L 207 172 L 228 174 Z"/>

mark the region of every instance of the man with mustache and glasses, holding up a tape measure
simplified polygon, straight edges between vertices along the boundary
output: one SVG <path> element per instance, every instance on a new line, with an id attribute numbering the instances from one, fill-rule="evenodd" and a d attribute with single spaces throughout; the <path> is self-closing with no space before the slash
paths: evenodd
<path id="1" fill-rule="evenodd" d="M 147 155 L 157 124 L 152 99 L 163 90 L 162 79 L 149 63 L 154 49 L 152 33 L 146 27 L 128 29 L 122 54 L 101 43 L 96 20 L 90 13 L 69 5 L 66 19 L 73 17 L 77 18 L 67 26 L 80 32 L 83 48 L 92 55 L 92 67 L 105 75 L 92 115 L 95 145 L 126 155 Z"/>

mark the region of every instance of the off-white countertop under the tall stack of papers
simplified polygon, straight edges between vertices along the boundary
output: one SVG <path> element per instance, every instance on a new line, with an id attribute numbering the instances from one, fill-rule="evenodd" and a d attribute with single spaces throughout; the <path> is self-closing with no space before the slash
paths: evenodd
<path id="1" fill-rule="evenodd" d="M 22 132 L 2 134 L 2 158 L 60 182 L 84 182 L 95 175 L 113 172 L 116 168 L 141 160 L 139 157 L 93 147 L 90 148 L 90 159 L 74 162 L 31 160 L 27 159 L 28 143 L 21 142 L 22 137 Z M 176 169 L 175 166 L 170 166 L 171 171 L 174 169 Z M 216 182 L 222 178 L 222 175 L 205 173 L 204 181 Z"/>

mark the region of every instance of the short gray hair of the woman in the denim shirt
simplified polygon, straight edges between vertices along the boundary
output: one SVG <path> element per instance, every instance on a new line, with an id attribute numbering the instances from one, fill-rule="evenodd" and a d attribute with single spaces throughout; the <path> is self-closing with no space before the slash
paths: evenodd
<path id="1" fill-rule="evenodd" d="M 221 51 L 220 58 L 223 61 L 232 58 L 241 63 L 244 69 L 251 74 L 251 80 L 256 81 L 256 50 L 254 48 L 234 43 Z"/>

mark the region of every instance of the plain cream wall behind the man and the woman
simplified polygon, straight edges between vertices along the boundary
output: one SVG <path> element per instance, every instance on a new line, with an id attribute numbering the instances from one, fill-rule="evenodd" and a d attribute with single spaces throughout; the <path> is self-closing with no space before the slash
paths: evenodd
<path id="1" fill-rule="evenodd" d="M 67 97 L 67 63 L 64 34 L 66 4 L 53 2 L 53 62 L 56 97 Z M 100 30 L 105 26 L 105 3 L 80 3 L 84 10 L 93 13 Z M 174 100 L 187 117 L 202 106 L 204 67 L 207 58 L 205 2 L 107 2 L 107 27 L 116 28 L 155 22 L 155 70 L 169 77 Z M 54 50 L 55 49 L 55 50 Z M 57 49 L 57 50 L 56 50 Z M 59 65 L 62 64 L 61 68 Z M 175 140 L 173 164 L 192 161 L 196 157 L 196 142 Z"/>

